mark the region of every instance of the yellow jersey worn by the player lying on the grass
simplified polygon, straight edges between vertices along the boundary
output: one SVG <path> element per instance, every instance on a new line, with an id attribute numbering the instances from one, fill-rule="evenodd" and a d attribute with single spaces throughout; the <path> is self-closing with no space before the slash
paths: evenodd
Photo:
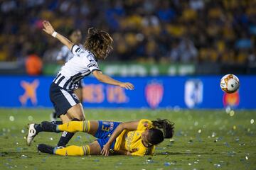
<path id="1" fill-rule="evenodd" d="M 145 147 L 142 143 L 142 132 L 151 129 L 153 123 L 150 120 L 139 120 L 137 130 L 124 130 L 116 139 L 114 150 L 127 150 L 132 155 L 143 156 L 153 154 L 155 146 Z"/>

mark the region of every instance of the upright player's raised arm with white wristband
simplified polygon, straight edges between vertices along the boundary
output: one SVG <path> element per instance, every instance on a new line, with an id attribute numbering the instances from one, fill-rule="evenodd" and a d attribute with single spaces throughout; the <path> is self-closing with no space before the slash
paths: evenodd
<path id="1" fill-rule="evenodd" d="M 60 42 L 63 43 L 63 45 L 66 45 L 69 50 L 71 50 L 71 48 L 73 47 L 74 43 L 70 42 L 70 40 L 68 40 L 68 38 L 65 38 L 63 35 L 55 32 L 53 26 L 49 23 L 49 21 L 43 21 L 43 30 L 49 35 L 52 35 L 54 38 L 60 40 Z"/>

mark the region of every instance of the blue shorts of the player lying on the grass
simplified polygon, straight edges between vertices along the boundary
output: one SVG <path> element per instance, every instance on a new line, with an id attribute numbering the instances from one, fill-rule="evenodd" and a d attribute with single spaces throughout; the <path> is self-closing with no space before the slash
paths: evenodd
<path id="1" fill-rule="evenodd" d="M 104 145 L 107 143 L 107 141 L 110 139 L 110 136 L 114 132 L 114 130 L 117 128 L 117 126 L 120 124 L 120 122 L 112 122 L 112 121 L 98 121 L 99 127 L 95 134 L 95 137 L 97 137 L 97 142 L 100 144 L 100 148 L 102 149 Z M 114 149 L 114 142 L 112 143 L 110 149 Z"/>

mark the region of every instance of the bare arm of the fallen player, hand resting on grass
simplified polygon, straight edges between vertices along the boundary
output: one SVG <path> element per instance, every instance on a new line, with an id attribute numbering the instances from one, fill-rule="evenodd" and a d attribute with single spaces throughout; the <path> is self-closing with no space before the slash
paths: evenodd
<path id="1" fill-rule="evenodd" d="M 114 132 L 112 133 L 112 135 L 110 136 L 110 139 L 108 140 L 106 145 L 104 145 L 100 153 L 105 156 L 109 155 L 112 142 L 114 142 L 114 140 L 117 139 L 117 137 L 122 133 L 122 131 L 137 130 L 138 125 L 139 125 L 139 120 L 119 124 L 117 128 L 114 130 Z"/>

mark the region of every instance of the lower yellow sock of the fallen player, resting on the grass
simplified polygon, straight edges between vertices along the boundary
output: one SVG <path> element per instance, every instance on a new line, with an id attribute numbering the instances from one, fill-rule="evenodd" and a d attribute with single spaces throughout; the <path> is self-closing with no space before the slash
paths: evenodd
<path id="1" fill-rule="evenodd" d="M 83 156 L 90 154 L 90 147 L 89 145 L 85 145 L 82 147 L 78 147 L 75 145 L 71 145 L 69 147 L 64 147 L 61 149 L 55 149 L 54 154 L 59 154 L 63 156 Z"/>

